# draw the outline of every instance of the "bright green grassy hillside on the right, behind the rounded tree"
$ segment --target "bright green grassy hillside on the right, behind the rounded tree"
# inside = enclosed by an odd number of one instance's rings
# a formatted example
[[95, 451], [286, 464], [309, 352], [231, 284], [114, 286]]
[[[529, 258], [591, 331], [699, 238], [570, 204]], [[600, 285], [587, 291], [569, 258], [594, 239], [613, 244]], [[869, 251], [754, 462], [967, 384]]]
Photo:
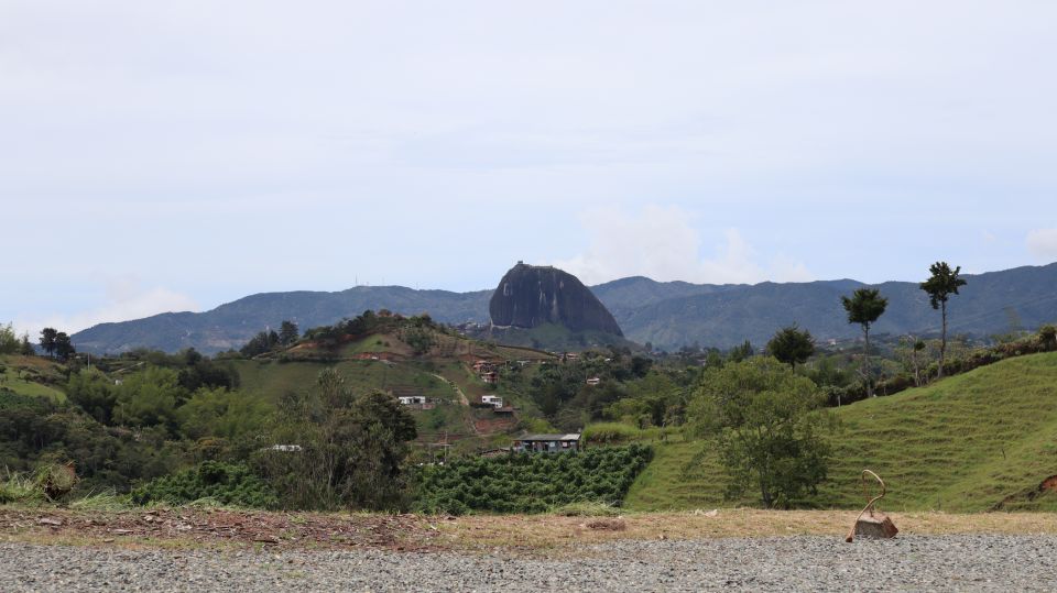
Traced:
[[[1057, 353], [1003, 361], [837, 415], [842, 429], [818, 506], [863, 504], [859, 472], [869, 468], [889, 484], [889, 509], [1057, 510], [1057, 492], [1039, 490], [1057, 474]], [[707, 443], [660, 446], [626, 504], [730, 505], [724, 481]]]

